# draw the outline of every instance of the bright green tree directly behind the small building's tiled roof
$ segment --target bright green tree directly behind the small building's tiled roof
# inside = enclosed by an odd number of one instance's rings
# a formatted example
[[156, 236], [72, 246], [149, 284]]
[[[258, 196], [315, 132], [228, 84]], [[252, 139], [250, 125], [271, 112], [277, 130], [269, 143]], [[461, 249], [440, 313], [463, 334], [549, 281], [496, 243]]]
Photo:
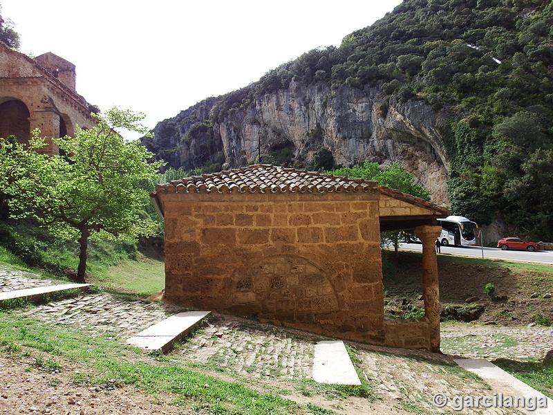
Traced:
[[[405, 168], [397, 162], [389, 163], [384, 169], [380, 169], [378, 163], [366, 161], [362, 165], [343, 167], [328, 173], [335, 174], [336, 176], [358, 177], [375, 181], [379, 185], [391, 187], [400, 192], [411, 194], [411, 196], [420, 197], [420, 199], [424, 199], [425, 201], [430, 200], [430, 192], [423, 186], [415, 183], [413, 175], [406, 172]], [[414, 234], [403, 230], [382, 232], [380, 240], [384, 246], [393, 245], [395, 252], [397, 252], [402, 237], [414, 237]]]

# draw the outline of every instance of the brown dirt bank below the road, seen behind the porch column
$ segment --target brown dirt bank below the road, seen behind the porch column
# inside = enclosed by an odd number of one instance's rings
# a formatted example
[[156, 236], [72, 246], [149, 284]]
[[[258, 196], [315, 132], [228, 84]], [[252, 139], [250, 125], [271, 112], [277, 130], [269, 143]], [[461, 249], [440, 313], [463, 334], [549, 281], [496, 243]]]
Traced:
[[[400, 252], [390, 258], [397, 273], [384, 277], [386, 313], [405, 317], [413, 308], [424, 308], [421, 257]], [[549, 273], [514, 271], [494, 261], [467, 265], [438, 255], [438, 272], [442, 321], [525, 326], [543, 321], [540, 317], [553, 320], [553, 267]], [[495, 286], [494, 295], [485, 293], [487, 284]]]

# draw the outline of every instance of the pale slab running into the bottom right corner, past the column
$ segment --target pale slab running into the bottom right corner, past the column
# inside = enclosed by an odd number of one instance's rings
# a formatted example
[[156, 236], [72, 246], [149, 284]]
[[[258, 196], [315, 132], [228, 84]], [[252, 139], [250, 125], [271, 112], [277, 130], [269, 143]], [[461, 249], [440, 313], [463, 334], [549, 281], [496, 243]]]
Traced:
[[[536, 391], [533, 387], [527, 385], [522, 380], [518, 380], [511, 374], [500, 367], [494, 365], [486, 359], [456, 359], [455, 362], [465, 370], [477, 374], [485, 380], [494, 392], [498, 400], [504, 400], [507, 396], [523, 396], [525, 398], [541, 399], [541, 402], [546, 402], [547, 407], [536, 407], [534, 410], [523, 410], [527, 414], [534, 415], [552, 415], [553, 400], [547, 398], [541, 392]], [[501, 395], [500, 395], [501, 394]], [[491, 394], [490, 394], [491, 395]], [[519, 407], [518, 409], [522, 409]]]

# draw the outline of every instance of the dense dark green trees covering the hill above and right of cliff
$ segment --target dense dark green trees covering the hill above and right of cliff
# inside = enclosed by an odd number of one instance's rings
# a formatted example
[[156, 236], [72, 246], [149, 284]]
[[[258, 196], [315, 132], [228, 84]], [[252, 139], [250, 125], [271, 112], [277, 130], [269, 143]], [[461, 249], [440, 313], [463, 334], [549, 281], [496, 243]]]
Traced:
[[400, 101], [447, 111], [452, 210], [553, 240], [550, 1], [405, 0], [339, 48], [310, 50], [220, 97], [212, 120], [292, 81], [381, 86]]

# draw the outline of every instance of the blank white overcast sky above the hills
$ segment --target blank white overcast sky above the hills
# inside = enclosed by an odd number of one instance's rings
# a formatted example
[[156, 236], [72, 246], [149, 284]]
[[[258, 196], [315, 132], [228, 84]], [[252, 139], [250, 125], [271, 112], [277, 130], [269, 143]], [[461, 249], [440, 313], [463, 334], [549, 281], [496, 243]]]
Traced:
[[67, 59], [88, 102], [143, 112], [149, 128], [308, 50], [339, 46], [401, 2], [0, 0], [21, 52]]

